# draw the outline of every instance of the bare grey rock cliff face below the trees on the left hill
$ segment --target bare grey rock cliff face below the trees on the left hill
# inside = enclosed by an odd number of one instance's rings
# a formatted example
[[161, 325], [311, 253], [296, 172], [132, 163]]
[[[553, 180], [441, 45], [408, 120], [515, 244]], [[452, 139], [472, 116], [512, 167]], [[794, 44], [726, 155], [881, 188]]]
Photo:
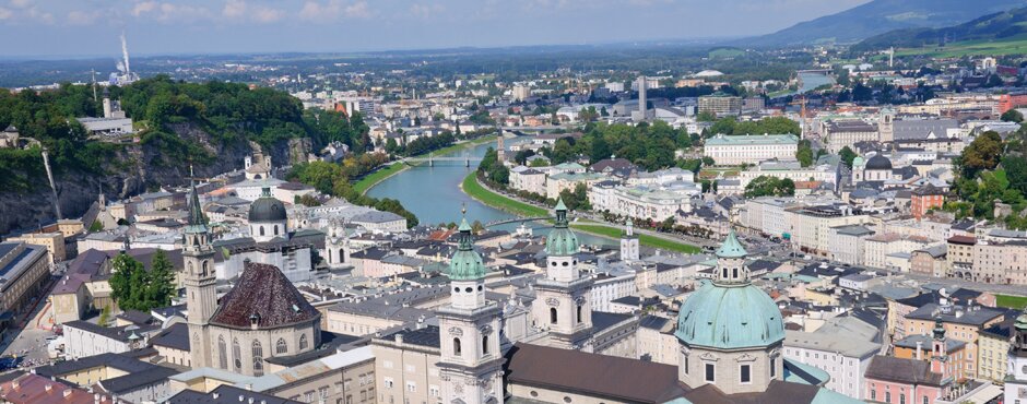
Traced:
[[[243, 161], [252, 154], [249, 142], [220, 144], [196, 126], [180, 123], [170, 129], [181, 139], [197, 142], [214, 156], [210, 164], [194, 164], [197, 177], [213, 177], [243, 168]], [[306, 162], [312, 150], [310, 139], [279, 142], [270, 151], [275, 166]], [[168, 162], [158, 147], [132, 144], [105, 164], [107, 175], [61, 171], [58, 169], [58, 199], [64, 218], [81, 217], [101, 192], [108, 201], [126, 199], [161, 186], [181, 186], [189, 182], [189, 164]], [[27, 193], [0, 190], [0, 235], [32, 229], [57, 219], [52, 193], [45, 176], [36, 178], [36, 187]], [[85, 224], [90, 226], [88, 223]]]

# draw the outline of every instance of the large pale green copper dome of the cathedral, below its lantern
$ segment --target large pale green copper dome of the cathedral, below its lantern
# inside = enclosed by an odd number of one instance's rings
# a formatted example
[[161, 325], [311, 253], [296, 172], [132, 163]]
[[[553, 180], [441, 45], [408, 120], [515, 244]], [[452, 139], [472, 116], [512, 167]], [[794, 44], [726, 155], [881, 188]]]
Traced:
[[707, 282], [682, 305], [674, 335], [688, 346], [762, 347], [784, 340], [784, 322], [777, 305], [758, 287]]

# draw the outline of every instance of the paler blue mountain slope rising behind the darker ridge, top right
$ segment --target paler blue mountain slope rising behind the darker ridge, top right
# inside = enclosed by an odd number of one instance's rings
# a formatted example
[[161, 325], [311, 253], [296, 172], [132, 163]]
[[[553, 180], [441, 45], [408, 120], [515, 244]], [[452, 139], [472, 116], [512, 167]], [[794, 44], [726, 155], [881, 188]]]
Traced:
[[857, 43], [895, 29], [952, 26], [1024, 5], [1027, 0], [873, 0], [774, 34], [734, 43], [748, 46]]

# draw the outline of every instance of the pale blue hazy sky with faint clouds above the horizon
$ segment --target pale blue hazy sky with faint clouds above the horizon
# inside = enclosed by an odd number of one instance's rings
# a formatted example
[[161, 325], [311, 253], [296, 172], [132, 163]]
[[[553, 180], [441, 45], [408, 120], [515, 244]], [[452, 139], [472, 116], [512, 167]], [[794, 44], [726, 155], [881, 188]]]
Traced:
[[869, 0], [0, 0], [0, 57], [358, 51], [744, 36]]

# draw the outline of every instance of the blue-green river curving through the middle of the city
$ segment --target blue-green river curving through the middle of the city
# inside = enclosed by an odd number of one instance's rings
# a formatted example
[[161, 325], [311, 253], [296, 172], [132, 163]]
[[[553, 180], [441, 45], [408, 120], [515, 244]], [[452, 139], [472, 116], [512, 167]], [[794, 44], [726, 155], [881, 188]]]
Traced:
[[[507, 144], [516, 141], [507, 141]], [[471, 148], [464, 148], [445, 154], [445, 157], [462, 157], [470, 153], [471, 156], [481, 157], [491, 146], [495, 147], [496, 142], [481, 144]], [[487, 206], [460, 190], [460, 182], [463, 177], [474, 169], [475, 163], [471, 162], [470, 168], [464, 167], [463, 162], [436, 162], [434, 167], [415, 166], [397, 174], [386, 180], [378, 182], [374, 188], [367, 191], [369, 197], [391, 198], [399, 200], [408, 211], [417, 215], [417, 219], [425, 225], [437, 225], [439, 223], [460, 222], [460, 209], [467, 205], [468, 222], [480, 221], [488, 223], [514, 218], [515, 215], [504, 211]], [[529, 224], [534, 228], [535, 234], [545, 234], [548, 231], [544, 223]], [[497, 226], [499, 229], [514, 230], [517, 224]], [[589, 245], [609, 245], [616, 243], [614, 240], [595, 237], [577, 231], [578, 240]]]

